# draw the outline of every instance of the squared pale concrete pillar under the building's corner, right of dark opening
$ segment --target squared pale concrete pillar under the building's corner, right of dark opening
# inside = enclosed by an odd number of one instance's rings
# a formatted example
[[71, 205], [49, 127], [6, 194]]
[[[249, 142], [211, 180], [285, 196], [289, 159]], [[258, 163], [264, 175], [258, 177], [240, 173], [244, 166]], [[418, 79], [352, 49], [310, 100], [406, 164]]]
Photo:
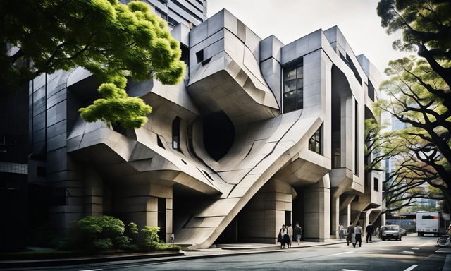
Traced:
[[304, 240], [323, 242], [330, 239], [329, 175], [304, 189]]

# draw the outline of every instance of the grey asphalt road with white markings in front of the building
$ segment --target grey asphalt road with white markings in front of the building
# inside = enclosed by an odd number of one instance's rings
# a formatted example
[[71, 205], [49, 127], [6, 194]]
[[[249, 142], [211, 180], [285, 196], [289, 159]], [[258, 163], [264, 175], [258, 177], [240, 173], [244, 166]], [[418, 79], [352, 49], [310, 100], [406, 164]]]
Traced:
[[[60, 267], [60, 270], [443, 270], [447, 254], [434, 253], [437, 249], [435, 241], [433, 237], [407, 236], [402, 241], [362, 243], [360, 248], [337, 244], [167, 263], [101, 263]], [[451, 263], [451, 255], [448, 258], [448, 263]]]

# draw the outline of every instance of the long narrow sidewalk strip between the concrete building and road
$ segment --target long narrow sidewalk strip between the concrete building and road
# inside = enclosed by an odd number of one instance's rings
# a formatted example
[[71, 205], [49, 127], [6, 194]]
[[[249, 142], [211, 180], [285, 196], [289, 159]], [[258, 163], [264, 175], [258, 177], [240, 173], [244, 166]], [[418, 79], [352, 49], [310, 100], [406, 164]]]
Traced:
[[278, 251], [290, 251], [314, 246], [330, 246], [346, 241], [333, 239], [324, 242], [301, 242], [301, 246], [293, 243], [292, 248], [280, 249], [280, 245], [265, 243], [229, 243], [221, 244], [221, 248], [206, 248], [193, 251], [181, 251], [180, 253], [139, 254], [121, 256], [95, 256], [62, 258], [49, 260], [0, 260], [0, 268], [19, 267], [46, 267], [58, 265], [80, 265], [87, 263], [103, 263], [115, 261], [117, 263], [133, 260], [134, 263], [159, 263], [174, 260], [193, 260], [197, 258], [227, 257], [233, 255], [247, 255], [256, 253], [273, 253]]

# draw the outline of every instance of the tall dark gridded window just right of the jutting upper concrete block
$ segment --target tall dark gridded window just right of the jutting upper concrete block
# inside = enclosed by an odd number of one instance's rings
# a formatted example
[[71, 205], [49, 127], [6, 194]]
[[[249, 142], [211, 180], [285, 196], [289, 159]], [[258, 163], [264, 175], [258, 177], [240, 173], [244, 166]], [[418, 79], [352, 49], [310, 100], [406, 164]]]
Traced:
[[285, 68], [283, 73], [283, 112], [304, 107], [304, 66], [302, 61]]

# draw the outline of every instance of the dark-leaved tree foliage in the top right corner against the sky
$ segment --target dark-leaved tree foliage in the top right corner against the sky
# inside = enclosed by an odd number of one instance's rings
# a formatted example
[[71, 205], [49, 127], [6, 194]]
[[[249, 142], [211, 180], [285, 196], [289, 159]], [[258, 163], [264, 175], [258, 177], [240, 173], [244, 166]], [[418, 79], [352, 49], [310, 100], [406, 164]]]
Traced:
[[402, 39], [393, 42], [395, 49], [416, 47], [447, 88], [435, 88], [421, 78], [419, 84], [445, 100], [451, 110], [451, 1], [449, 0], [381, 0], [377, 7], [381, 25], [388, 34], [402, 31]]

